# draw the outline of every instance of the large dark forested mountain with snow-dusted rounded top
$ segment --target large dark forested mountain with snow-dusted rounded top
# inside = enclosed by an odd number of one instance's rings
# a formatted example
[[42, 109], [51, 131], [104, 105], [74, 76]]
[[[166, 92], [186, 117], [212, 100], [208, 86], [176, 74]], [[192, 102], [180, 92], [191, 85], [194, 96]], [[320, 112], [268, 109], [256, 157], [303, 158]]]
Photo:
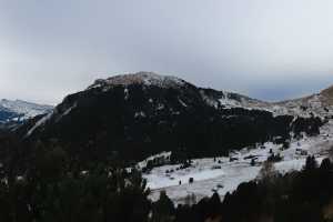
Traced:
[[135, 162], [162, 151], [176, 159], [213, 157], [320, 133], [321, 117], [275, 114], [260, 105], [268, 103], [140, 72], [98, 80], [18, 132], [30, 143], [57, 141], [88, 162]]

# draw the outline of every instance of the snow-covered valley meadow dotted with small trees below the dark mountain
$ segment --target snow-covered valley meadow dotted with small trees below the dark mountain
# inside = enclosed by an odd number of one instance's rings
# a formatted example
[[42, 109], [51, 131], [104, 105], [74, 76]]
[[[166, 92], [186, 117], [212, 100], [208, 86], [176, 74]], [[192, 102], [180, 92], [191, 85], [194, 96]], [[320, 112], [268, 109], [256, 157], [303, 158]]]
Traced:
[[[159, 199], [161, 190], [165, 190], [175, 203], [184, 203], [186, 196], [192, 194], [196, 196], [196, 200], [211, 196], [213, 192], [218, 192], [223, 198], [226, 192], [235, 190], [240, 183], [254, 180], [259, 175], [262, 163], [270, 155], [270, 150], [280, 153], [283, 158], [274, 167], [285, 173], [301, 170], [309, 154], [315, 155], [321, 162], [332, 145], [333, 122], [329, 122], [322, 127], [320, 135], [294, 140], [287, 150], [281, 150], [281, 145], [269, 142], [261, 148], [243, 149], [232, 153], [231, 157], [236, 159], [233, 162], [229, 157], [216, 158], [215, 161], [214, 159], [198, 159], [193, 160], [192, 167], [184, 170], [176, 170], [180, 165], [163, 165], [154, 168], [143, 176], [152, 191], [150, 198], [153, 201]], [[251, 158], [254, 157], [258, 159], [255, 164], [251, 165]], [[170, 173], [170, 171], [173, 172]], [[189, 183], [190, 178], [194, 180], [192, 184]]]

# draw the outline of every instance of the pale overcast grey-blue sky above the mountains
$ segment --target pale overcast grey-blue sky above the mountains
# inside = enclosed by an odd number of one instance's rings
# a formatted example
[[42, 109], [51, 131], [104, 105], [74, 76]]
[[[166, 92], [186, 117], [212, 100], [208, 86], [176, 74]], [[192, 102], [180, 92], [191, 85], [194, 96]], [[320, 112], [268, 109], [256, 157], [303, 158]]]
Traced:
[[0, 98], [154, 71], [265, 100], [333, 84], [332, 0], [0, 0]]

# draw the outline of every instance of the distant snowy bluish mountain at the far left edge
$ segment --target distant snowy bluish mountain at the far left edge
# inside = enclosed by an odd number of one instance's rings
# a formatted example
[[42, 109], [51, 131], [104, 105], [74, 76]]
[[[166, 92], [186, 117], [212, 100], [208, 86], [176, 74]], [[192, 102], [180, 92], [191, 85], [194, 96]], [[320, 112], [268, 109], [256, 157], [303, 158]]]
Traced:
[[0, 125], [16, 125], [30, 118], [48, 113], [52, 109], [51, 105], [2, 99], [0, 100]]

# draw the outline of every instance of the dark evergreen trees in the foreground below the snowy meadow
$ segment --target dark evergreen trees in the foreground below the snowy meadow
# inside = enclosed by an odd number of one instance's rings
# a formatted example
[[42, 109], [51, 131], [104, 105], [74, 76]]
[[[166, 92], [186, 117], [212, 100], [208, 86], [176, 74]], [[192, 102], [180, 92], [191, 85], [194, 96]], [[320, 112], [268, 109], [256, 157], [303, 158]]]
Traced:
[[8, 222], [329, 222], [333, 219], [333, 164], [314, 157], [301, 172], [280, 174], [265, 163], [260, 176], [223, 200], [218, 193], [194, 204], [157, 202], [134, 169], [121, 161], [82, 165], [51, 141], [27, 148], [0, 137], [0, 221]]

